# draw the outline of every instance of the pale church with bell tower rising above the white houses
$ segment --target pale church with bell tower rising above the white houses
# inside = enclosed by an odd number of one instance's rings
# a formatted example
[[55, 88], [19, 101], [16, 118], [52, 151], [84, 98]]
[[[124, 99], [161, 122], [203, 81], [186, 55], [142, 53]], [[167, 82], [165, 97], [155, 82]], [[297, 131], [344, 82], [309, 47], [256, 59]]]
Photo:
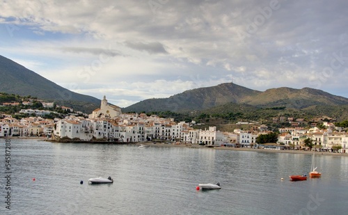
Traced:
[[102, 104], [100, 104], [100, 109], [95, 109], [88, 118], [114, 118], [120, 116], [122, 113], [119, 106], [108, 104], [106, 96], [102, 99]]

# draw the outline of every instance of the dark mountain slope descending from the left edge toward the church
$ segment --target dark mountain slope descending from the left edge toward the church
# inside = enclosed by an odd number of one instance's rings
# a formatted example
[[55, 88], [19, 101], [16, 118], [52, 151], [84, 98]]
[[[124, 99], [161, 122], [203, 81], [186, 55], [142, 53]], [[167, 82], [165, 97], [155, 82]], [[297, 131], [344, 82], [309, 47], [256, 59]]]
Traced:
[[100, 105], [100, 99], [74, 93], [45, 79], [26, 67], [0, 56], [0, 92], [47, 99], [74, 109], [91, 112]]

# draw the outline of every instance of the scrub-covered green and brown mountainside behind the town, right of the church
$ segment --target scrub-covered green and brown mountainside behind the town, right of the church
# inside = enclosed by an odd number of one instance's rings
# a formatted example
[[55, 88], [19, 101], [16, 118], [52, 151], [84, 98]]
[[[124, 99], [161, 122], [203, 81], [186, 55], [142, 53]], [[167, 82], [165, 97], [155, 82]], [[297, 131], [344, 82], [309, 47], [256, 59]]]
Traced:
[[[230, 106], [230, 109], [223, 109], [226, 104]], [[246, 110], [262, 109], [262, 112], [267, 113], [292, 110], [300, 113], [306, 111], [306, 115], [309, 113], [312, 116], [330, 116], [342, 120], [343, 118], [348, 119], [347, 105], [347, 98], [312, 88], [274, 88], [260, 92], [234, 83], [222, 83], [218, 86], [187, 90], [168, 98], [145, 99], [142, 102], [128, 106], [124, 109], [124, 112], [171, 110], [178, 113], [189, 113], [192, 111], [215, 110], [217, 113], [225, 111], [246, 113]], [[217, 109], [222, 109], [222, 111], [217, 111]], [[243, 111], [235, 111], [234, 109], [243, 109]], [[248, 115], [250, 116], [252, 113], [253, 111]], [[209, 115], [212, 116], [212, 114]]]

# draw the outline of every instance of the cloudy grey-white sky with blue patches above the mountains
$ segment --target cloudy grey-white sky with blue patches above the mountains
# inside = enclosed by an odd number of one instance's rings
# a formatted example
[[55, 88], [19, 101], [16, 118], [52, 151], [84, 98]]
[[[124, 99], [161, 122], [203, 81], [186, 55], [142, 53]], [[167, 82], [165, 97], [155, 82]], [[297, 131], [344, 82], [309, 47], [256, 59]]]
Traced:
[[121, 107], [230, 81], [348, 97], [346, 0], [0, 5], [0, 55]]

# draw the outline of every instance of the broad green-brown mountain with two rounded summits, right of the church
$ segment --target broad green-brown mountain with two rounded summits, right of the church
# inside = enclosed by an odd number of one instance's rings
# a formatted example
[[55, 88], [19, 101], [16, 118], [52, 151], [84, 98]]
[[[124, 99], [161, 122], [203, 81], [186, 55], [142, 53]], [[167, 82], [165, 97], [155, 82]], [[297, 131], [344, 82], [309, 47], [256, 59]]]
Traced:
[[123, 109], [124, 112], [201, 111], [229, 102], [258, 108], [305, 109], [310, 106], [347, 105], [348, 99], [313, 88], [272, 88], [264, 92], [235, 83], [196, 88], [163, 99], [146, 99]]

